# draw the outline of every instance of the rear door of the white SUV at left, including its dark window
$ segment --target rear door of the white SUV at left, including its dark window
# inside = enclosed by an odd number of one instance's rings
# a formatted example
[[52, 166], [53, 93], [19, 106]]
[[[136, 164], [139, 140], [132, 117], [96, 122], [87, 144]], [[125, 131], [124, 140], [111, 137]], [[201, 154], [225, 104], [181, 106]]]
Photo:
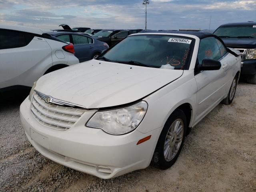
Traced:
[[[32, 86], [52, 66], [52, 51], [42, 37], [16, 30], [0, 29], [0, 88]], [[34, 70], [39, 66], [42, 70]]]

